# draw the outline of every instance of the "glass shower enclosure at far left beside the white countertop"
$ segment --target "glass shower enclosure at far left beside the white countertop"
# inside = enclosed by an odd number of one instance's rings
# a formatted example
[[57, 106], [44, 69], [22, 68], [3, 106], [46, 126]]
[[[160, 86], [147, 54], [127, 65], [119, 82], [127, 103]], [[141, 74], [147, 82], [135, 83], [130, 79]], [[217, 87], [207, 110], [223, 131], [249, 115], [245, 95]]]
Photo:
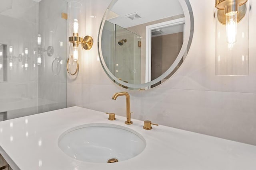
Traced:
[[0, 121], [67, 107], [64, 0], [1, 0]]

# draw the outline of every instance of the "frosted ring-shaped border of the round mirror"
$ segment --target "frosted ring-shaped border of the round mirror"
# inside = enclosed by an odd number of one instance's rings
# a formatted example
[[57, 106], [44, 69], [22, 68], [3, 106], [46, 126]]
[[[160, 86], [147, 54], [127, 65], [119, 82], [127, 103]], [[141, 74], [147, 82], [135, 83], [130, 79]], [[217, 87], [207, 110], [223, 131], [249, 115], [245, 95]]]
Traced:
[[[145, 89], [148, 89], [148, 87], [150, 87], [150, 86], [160, 82], [164, 78], [166, 78], [176, 68], [178, 63], [180, 63], [180, 60], [182, 59], [185, 52], [187, 51], [187, 53], [188, 53], [188, 51], [190, 49], [190, 46], [191, 46], [191, 43], [192, 43], [192, 37], [193, 37], [193, 34], [194, 34], [194, 16], [193, 16], [193, 12], [192, 12], [192, 7], [190, 5], [189, 0], [179, 0], [180, 5], [182, 6], [182, 9], [183, 9], [184, 18], [185, 18], [185, 28], [184, 28], [185, 38], [183, 40], [183, 44], [182, 44], [182, 47], [180, 49], [180, 52], [179, 52], [177, 58], [175, 59], [174, 63], [172, 63], [170, 68], [168, 68], [168, 70], [166, 70], [166, 72], [164, 72], [161, 76], [159, 76], [158, 78], [156, 78], [154, 80], [151, 80], [150, 82], [146, 82], [146, 83], [143, 83], [143, 84], [131, 84], [131, 83], [126, 83], [126, 82], [123, 82], [122, 80], [119, 80], [118, 78], [116, 78], [114, 76], [114, 74], [112, 74], [112, 72], [110, 72], [110, 70], [106, 66], [106, 63], [105, 63], [103, 55], [102, 55], [102, 50], [101, 50], [102, 49], [101, 48], [101, 37], [102, 37], [102, 31], [103, 31], [104, 23], [106, 21], [106, 16], [108, 16], [109, 12], [111, 11], [111, 8], [114, 6], [114, 4], [117, 1], [118, 0], [112, 0], [112, 2], [110, 2], [110, 5], [106, 9], [106, 12], [104, 13], [102, 21], [100, 23], [100, 29], [99, 29], [99, 33], [98, 33], [98, 54], [100, 56], [100, 63], [102, 65], [104, 71], [108, 75], [108, 77], [111, 80], [113, 80], [115, 82], [115, 84], [118, 83], [118, 84], [121, 84], [122, 86], [127, 86], [129, 88], [137, 88], [137, 89], [145, 88]], [[189, 36], [186, 35], [186, 33], [190, 33]], [[168, 78], [168, 79], [170, 79], [170, 78]], [[158, 85], [158, 86], [160, 86], [160, 85]]]

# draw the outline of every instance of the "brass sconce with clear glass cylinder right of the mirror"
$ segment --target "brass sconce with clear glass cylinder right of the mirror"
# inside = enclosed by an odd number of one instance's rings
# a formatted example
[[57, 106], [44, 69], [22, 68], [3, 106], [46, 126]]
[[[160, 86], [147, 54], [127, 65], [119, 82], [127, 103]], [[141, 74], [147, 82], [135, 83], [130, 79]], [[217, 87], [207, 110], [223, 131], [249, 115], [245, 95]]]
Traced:
[[215, 0], [216, 75], [248, 75], [248, 0]]

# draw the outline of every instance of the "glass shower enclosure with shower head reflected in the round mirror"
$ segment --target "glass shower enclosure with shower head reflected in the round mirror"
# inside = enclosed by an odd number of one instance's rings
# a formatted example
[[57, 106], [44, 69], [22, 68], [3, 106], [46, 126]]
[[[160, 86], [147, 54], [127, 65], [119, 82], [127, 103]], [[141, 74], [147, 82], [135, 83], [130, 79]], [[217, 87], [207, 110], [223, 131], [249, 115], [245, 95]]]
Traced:
[[140, 36], [109, 21], [102, 36], [102, 55], [108, 69], [123, 82], [140, 84]]

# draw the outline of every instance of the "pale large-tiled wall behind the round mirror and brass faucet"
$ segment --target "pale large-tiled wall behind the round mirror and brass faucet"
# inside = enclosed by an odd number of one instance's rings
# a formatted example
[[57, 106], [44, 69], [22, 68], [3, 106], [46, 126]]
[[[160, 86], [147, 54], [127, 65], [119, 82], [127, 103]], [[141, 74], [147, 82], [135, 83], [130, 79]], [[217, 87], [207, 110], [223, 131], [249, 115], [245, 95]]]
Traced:
[[[84, 35], [91, 35], [96, 42], [110, 0], [81, 2], [86, 16]], [[95, 43], [83, 52], [80, 76], [68, 79], [68, 106], [125, 116], [125, 98], [114, 101], [111, 97], [128, 91], [134, 119], [256, 145], [256, 3], [249, 2], [249, 76], [215, 76], [214, 1], [190, 0], [194, 37], [184, 63], [172, 78], [146, 91], [120, 88], [102, 69]]]

